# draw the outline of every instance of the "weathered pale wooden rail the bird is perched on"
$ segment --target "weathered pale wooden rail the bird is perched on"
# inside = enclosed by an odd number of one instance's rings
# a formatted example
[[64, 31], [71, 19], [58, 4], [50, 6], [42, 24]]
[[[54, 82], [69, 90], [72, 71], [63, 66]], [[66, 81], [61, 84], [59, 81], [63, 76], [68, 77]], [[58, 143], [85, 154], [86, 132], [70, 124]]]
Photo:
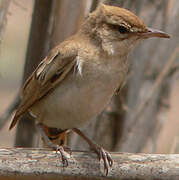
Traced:
[[69, 166], [49, 149], [0, 149], [0, 177], [58, 179], [179, 179], [179, 154], [112, 153], [114, 165], [106, 177], [102, 162], [91, 152], [72, 152]]

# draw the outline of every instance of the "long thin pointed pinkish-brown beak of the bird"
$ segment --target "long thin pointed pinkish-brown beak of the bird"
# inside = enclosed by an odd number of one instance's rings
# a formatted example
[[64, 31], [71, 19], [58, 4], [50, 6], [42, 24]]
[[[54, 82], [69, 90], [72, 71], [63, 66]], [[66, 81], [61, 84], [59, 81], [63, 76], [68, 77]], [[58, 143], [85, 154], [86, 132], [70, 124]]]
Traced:
[[140, 35], [143, 38], [151, 38], [151, 37], [170, 38], [169, 34], [152, 28], [147, 28], [147, 32], [142, 32], [140, 33]]

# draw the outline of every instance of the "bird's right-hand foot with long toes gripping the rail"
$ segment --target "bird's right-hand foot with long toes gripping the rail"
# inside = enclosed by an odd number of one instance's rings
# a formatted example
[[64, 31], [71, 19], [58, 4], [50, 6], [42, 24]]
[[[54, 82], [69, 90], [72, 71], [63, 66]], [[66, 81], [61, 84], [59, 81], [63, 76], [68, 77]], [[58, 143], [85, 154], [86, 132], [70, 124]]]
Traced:
[[97, 144], [94, 144], [92, 147], [92, 150], [95, 151], [95, 153], [98, 155], [99, 157], [99, 161], [101, 161], [101, 159], [104, 162], [104, 172], [106, 174], [106, 176], [108, 175], [112, 165], [113, 165], [113, 160], [112, 157], [110, 155], [109, 152], [105, 151], [102, 147], [100, 147]]

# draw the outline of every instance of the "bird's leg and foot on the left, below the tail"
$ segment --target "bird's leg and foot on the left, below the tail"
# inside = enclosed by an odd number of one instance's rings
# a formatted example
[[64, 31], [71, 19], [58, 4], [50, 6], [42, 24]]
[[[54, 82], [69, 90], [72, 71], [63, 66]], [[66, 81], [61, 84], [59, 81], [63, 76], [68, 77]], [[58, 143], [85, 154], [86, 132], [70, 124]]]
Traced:
[[44, 131], [44, 128], [43, 128], [43, 124], [42, 123], [38, 123], [37, 124], [37, 129], [38, 131], [40, 132], [44, 142], [47, 144], [48, 147], [56, 150], [56, 152], [60, 152], [61, 154], [61, 158], [62, 158], [62, 163], [63, 163], [63, 166], [68, 166], [68, 156], [63, 148], [62, 145], [58, 145], [58, 144], [54, 144], [52, 143], [52, 141], [48, 138], [48, 136], [46, 135], [45, 131]]

